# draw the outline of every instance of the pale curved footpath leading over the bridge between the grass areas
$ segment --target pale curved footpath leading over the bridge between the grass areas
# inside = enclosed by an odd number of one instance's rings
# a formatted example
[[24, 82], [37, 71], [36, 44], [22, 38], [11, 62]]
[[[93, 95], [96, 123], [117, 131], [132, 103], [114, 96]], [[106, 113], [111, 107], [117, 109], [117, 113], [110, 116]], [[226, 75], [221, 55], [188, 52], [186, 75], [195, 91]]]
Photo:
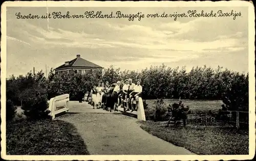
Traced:
[[92, 155], [189, 155], [185, 148], [152, 136], [135, 118], [70, 102], [68, 114], [57, 117], [74, 124]]

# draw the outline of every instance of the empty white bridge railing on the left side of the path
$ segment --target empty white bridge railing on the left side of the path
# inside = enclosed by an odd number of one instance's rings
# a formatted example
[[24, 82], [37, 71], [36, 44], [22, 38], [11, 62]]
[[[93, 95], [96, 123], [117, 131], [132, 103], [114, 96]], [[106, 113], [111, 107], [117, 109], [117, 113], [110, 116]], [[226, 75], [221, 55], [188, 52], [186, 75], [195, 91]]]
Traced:
[[52, 119], [55, 118], [56, 114], [67, 112], [68, 109], [68, 102], [69, 102], [69, 94], [62, 94], [56, 97], [53, 97], [49, 101], [49, 111], [50, 116]]

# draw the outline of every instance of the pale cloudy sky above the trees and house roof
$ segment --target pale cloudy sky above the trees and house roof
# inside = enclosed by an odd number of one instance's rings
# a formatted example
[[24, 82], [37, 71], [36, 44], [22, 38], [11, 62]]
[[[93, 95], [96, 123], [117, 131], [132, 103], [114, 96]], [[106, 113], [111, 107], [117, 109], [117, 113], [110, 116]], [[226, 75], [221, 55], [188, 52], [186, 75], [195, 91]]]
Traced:
[[[17, 19], [15, 14], [45, 15], [67, 11], [109, 14], [167, 14], [241, 12], [241, 17]], [[247, 8], [7, 8], [7, 77], [30, 70], [49, 71], [76, 58], [108, 68], [142, 70], [164, 63], [167, 67], [204, 66], [248, 72]]]

